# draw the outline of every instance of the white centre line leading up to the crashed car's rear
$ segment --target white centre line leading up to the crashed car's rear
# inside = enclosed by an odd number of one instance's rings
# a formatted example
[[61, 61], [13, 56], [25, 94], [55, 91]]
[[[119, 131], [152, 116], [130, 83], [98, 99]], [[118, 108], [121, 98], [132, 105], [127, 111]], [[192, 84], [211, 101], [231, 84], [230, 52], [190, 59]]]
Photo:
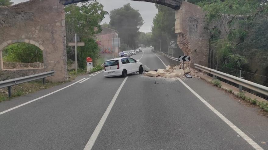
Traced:
[[84, 148], [84, 150], [91, 150], [91, 148], [93, 147], [99, 133], [101, 132], [101, 128], [104, 125], [105, 120], [107, 119], [113, 105], [115, 104], [115, 100], [117, 98], [117, 96], [119, 95], [122, 87], [124, 86], [126, 80], [128, 79], [129, 76], [125, 77], [124, 81], [122, 82], [122, 84], [119, 86], [118, 90], [115, 93], [115, 96], [113, 97], [113, 99], [111, 100], [109, 106], [107, 107], [106, 111], [104, 112], [103, 116], [101, 117], [100, 122], [98, 123], [97, 127], [95, 128], [94, 132], [92, 133], [89, 141], [86, 143], [86, 146]]

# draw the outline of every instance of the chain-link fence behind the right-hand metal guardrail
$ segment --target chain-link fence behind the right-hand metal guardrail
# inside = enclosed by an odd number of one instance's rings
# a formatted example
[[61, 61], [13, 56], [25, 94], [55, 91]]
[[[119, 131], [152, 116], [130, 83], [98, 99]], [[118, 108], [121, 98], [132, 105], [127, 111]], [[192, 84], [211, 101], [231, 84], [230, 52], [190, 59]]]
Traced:
[[[236, 76], [236, 77], [239, 77], [239, 78], [243, 78], [245, 80], [248, 80], [248, 81], [257, 83], [259, 85], [263, 85], [263, 86], [267, 86], [268, 87], [268, 77], [266, 77], [266, 76], [254, 74], [254, 73], [251, 73], [251, 72], [245, 72], [245, 71], [237, 70], [237, 69], [233, 69], [233, 68], [228, 68], [228, 67], [220, 66], [220, 65], [218, 65], [215, 68], [216, 68], [216, 70], [218, 70], [220, 72], [224, 72], [224, 73], [227, 73], [229, 75], [233, 75], [233, 76]], [[217, 78], [219, 80], [223, 81], [223, 82], [226, 82], [226, 83], [228, 83], [230, 85], [233, 85], [233, 86], [239, 88], [239, 85], [238, 84], [235, 84], [234, 82], [230, 82], [228, 80], [225, 80], [225, 79], [219, 78], [219, 77], [217, 77]], [[244, 91], [247, 91], [249, 93], [252, 93], [254, 95], [258, 95], [259, 97], [262, 97], [262, 98], [268, 100], [268, 96], [267, 95], [260, 94], [258, 92], [255, 92], [255, 91], [253, 91], [251, 89], [248, 89], [248, 88], [245, 88], [245, 87], [243, 87], [243, 90]]]

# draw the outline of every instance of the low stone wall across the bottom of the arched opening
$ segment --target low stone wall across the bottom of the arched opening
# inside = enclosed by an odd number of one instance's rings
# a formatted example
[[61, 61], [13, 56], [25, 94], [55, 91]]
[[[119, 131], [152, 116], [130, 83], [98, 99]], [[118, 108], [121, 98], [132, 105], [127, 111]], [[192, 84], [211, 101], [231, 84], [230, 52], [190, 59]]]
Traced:
[[44, 68], [44, 63], [3, 62], [3, 67], [4, 69], [41, 69]]

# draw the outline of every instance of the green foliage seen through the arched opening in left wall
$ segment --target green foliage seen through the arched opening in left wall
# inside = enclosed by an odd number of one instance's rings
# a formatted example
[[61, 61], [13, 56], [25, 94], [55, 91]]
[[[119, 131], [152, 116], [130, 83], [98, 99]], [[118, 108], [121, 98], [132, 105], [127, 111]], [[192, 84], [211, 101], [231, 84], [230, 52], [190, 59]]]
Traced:
[[43, 52], [29, 43], [14, 43], [3, 50], [4, 62], [43, 62]]

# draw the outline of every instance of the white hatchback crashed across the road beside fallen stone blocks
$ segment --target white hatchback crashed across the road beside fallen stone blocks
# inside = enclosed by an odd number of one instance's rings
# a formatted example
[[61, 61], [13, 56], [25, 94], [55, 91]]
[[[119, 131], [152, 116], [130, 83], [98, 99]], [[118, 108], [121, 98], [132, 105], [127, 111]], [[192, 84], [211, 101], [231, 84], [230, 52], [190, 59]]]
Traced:
[[104, 63], [104, 77], [122, 76], [126, 77], [128, 74], [139, 72], [143, 73], [143, 66], [139, 60], [131, 57], [122, 57], [107, 60]]

